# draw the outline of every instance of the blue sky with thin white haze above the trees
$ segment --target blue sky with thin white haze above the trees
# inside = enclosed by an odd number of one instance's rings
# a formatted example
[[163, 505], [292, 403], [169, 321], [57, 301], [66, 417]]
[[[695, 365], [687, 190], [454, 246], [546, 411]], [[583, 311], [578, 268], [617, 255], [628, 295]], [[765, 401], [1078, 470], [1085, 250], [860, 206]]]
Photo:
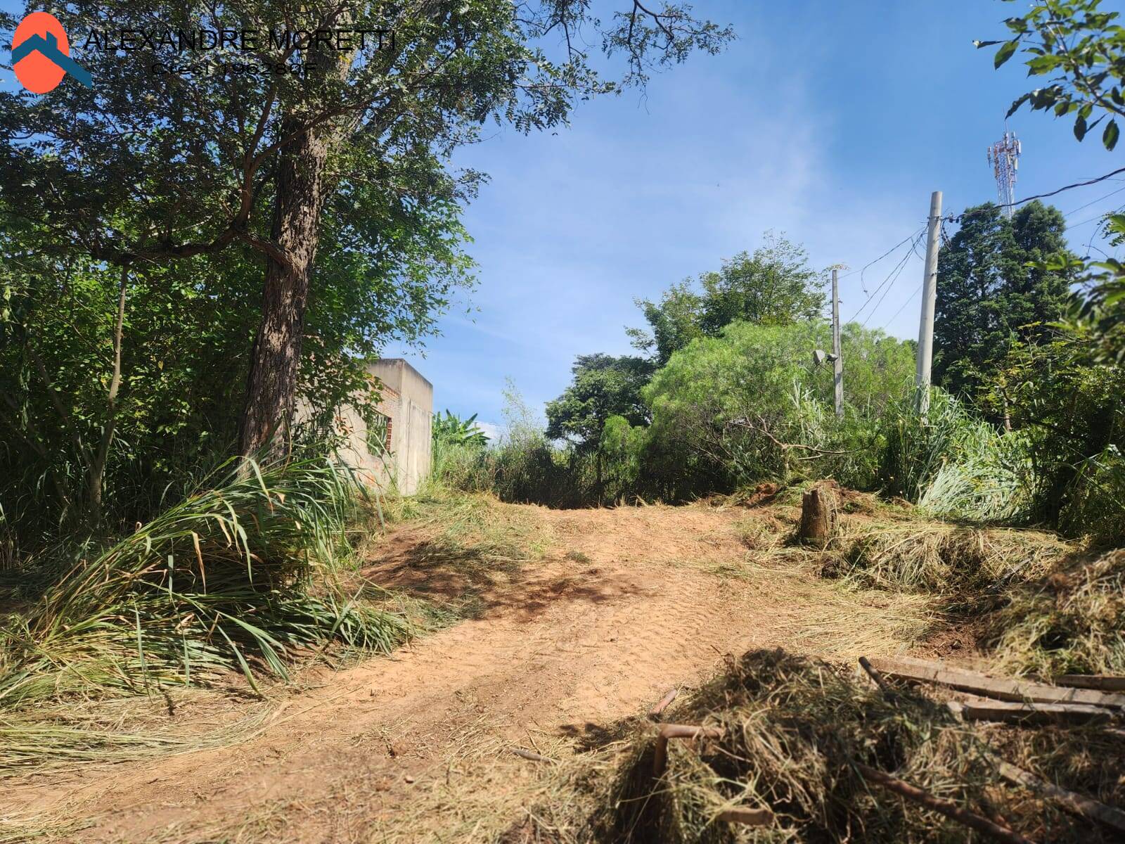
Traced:
[[[695, 7], [735, 26], [738, 41], [722, 55], [655, 77], [647, 97], [583, 104], [557, 134], [497, 129], [458, 156], [492, 177], [466, 214], [479, 311], [444, 318], [424, 357], [387, 350], [433, 381], [435, 410], [497, 423], [512, 378], [541, 411], [566, 387], [576, 354], [629, 351], [624, 327], [641, 324], [636, 297], [753, 250], [766, 230], [803, 243], [818, 268], [858, 269], [924, 225], [930, 191], [944, 192], [946, 213], [996, 198], [986, 149], [1011, 100], [1034, 86], [1015, 61], [993, 71], [992, 51], [972, 41], [1001, 37], [1014, 5]], [[1069, 122], [1018, 113], [1009, 128], [1024, 144], [1017, 199], [1120, 167], [1092, 134], [1079, 144]], [[1123, 185], [1055, 203], [1071, 212]], [[1123, 204], [1125, 191], [1068, 219]], [[1096, 227], [1072, 232], [1080, 253]], [[864, 273], [868, 290], [904, 249]], [[917, 336], [921, 275], [911, 255], [868, 325]], [[844, 318], [866, 298], [860, 280], [843, 280]]]

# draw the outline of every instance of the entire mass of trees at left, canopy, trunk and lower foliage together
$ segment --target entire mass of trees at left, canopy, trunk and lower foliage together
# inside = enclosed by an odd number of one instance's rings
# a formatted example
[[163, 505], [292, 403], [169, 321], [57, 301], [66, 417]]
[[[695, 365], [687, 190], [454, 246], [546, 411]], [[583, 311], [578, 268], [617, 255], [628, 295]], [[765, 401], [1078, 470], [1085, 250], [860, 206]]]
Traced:
[[[471, 284], [460, 214], [480, 174], [450, 155], [485, 122], [557, 126], [732, 37], [628, 0], [596, 18], [585, 0], [51, 11], [93, 86], [0, 91], [0, 412], [21, 443], [0, 485], [26, 482], [0, 504], [89, 526], [107, 474], [132, 522], [162, 466], [331, 433], [370, 393], [364, 359], [433, 330]], [[201, 32], [250, 37], [204, 50]], [[618, 64], [595, 70], [588, 43]]]

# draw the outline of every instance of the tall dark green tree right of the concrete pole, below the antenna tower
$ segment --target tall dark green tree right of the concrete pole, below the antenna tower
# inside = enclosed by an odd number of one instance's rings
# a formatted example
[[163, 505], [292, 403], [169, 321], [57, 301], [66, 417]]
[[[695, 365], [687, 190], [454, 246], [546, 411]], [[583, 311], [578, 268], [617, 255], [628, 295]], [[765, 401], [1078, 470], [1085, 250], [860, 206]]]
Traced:
[[936, 383], [975, 397], [1014, 342], [1060, 318], [1068, 276], [1037, 264], [1065, 251], [1064, 231], [1062, 214], [1038, 201], [1011, 218], [992, 203], [965, 209], [938, 253]]

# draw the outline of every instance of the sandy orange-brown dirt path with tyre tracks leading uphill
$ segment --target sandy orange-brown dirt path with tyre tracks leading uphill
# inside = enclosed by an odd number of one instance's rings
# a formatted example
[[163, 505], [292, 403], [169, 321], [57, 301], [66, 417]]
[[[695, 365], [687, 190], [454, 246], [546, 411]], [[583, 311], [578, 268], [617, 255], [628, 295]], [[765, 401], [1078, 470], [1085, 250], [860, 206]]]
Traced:
[[[549, 530], [550, 549], [482, 590], [476, 618], [309, 671], [249, 740], [34, 778], [9, 789], [9, 811], [80, 819], [61, 837], [81, 842], [495, 839], [537, 787], [512, 747], [596, 744], [724, 654], [886, 653], [922, 623], [878, 595], [748, 568], [745, 510], [504, 506]], [[423, 595], [466, 589], [449, 560], [417, 564], [430, 539], [397, 529], [368, 573]]]

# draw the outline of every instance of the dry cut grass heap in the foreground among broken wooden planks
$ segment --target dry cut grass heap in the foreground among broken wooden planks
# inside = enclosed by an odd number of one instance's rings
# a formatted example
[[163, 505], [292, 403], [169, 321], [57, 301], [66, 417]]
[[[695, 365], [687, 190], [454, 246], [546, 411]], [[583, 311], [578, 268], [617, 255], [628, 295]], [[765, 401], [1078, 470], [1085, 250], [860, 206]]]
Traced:
[[[718, 727], [721, 738], [668, 744], [654, 779], [656, 729], [639, 730], [601, 793], [592, 838], [613, 842], [868, 841], [962, 842], [968, 830], [867, 782], [857, 764], [890, 773], [932, 794], [1019, 832], [1053, 842], [1098, 842], [1101, 830], [1004, 787], [1008, 760], [1051, 781], [1113, 799], [1123, 772], [1107, 740], [1080, 743], [1101, 762], [1066, 770], [1070, 756], [1036, 761], [1043, 737], [1068, 749], [1062, 730], [980, 728], [908, 689], [884, 695], [849, 668], [781, 650], [750, 652], [674, 709], [668, 720]], [[1104, 734], [1098, 734], [1102, 736]], [[1028, 736], [1030, 736], [1028, 738]], [[1001, 742], [1002, 739], [1002, 742]], [[776, 821], [754, 829], [718, 820], [724, 809], [771, 808]]]

